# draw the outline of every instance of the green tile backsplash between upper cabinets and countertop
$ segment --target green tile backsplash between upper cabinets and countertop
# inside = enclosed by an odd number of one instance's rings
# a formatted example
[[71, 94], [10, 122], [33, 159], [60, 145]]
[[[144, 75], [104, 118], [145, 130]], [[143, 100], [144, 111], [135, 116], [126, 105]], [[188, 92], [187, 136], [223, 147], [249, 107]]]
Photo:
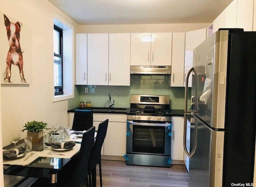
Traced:
[[[170, 75], [131, 75], [130, 86], [75, 85], [75, 98], [68, 100], [68, 109], [78, 106], [80, 100], [90, 100], [92, 106], [108, 107], [109, 97], [114, 107], [130, 107], [130, 94], [170, 95], [171, 109], [184, 109], [184, 87], [170, 87]], [[88, 87], [89, 93], [84, 88]], [[189, 93], [191, 89], [189, 89]], [[188, 103], [190, 101], [188, 96]]]

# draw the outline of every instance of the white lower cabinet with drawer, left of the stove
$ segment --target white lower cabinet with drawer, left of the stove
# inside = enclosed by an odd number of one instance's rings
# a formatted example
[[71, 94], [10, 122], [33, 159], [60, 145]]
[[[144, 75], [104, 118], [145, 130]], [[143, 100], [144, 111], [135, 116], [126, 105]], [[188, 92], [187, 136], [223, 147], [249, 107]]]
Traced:
[[[126, 154], [126, 114], [93, 114], [93, 125], [108, 119], [108, 130], [102, 147], [102, 155], [123, 156]], [[103, 151], [104, 150], [104, 151]]]

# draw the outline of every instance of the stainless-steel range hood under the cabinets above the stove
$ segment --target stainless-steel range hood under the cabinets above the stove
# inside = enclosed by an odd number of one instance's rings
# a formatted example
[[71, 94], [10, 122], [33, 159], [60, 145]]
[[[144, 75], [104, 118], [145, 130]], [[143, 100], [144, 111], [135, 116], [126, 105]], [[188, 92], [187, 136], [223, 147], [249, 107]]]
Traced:
[[171, 66], [131, 66], [131, 74], [171, 74]]

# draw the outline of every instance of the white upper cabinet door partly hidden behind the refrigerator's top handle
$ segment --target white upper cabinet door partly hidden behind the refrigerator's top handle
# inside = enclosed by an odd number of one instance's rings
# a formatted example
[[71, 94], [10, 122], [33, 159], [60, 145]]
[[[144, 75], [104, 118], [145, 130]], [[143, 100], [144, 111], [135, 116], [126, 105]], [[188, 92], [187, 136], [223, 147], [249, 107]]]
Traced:
[[[184, 63], [184, 86], [188, 70], [193, 65], [193, 50], [206, 39], [206, 28], [186, 32], [185, 37], [185, 63]], [[188, 80], [188, 87], [192, 86], [192, 75]]]

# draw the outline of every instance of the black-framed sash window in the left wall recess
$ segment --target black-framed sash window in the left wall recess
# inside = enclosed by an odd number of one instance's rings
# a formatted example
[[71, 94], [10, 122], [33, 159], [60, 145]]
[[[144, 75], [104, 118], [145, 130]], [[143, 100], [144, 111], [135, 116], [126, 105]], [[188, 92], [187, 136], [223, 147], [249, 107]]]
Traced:
[[63, 95], [63, 30], [54, 25], [54, 95]]

